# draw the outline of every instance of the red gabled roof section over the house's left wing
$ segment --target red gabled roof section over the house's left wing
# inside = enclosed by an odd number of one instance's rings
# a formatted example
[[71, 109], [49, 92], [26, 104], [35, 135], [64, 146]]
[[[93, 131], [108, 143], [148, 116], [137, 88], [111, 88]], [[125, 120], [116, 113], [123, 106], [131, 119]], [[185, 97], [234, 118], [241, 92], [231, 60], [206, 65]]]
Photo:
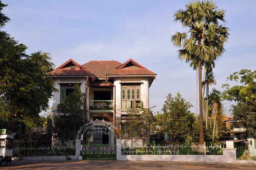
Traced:
[[93, 76], [93, 74], [73, 59], [70, 59], [55, 70], [47, 73], [47, 76]]

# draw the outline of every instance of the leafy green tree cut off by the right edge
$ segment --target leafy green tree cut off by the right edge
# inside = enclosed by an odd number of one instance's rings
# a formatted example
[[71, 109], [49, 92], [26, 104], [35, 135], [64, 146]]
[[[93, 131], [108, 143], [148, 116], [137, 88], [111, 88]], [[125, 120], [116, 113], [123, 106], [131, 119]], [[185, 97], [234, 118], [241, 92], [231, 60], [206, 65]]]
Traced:
[[227, 77], [227, 80], [240, 80], [243, 85], [235, 85], [230, 88], [228, 84], [222, 85], [225, 88], [223, 98], [235, 101], [232, 105], [234, 120], [239, 120], [239, 125], [246, 128], [246, 132], [256, 137], [256, 70], [242, 69]]

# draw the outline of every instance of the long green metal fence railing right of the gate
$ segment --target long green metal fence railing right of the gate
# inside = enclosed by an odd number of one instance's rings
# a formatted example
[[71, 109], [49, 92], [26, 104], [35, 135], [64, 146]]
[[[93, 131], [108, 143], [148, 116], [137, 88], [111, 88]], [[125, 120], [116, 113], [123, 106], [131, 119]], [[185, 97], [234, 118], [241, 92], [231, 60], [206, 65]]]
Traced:
[[157, 144], [122, 146], [122, 155], [223, 155], [224, 144]]

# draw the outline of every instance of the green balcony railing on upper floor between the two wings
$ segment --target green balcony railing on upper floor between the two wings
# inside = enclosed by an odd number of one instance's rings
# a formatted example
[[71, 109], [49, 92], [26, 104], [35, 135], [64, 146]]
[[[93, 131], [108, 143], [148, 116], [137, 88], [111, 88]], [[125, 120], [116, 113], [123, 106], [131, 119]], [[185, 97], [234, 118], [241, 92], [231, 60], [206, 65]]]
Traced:
[[90, 100], [90, 110], [113, 110], [113, 100]]

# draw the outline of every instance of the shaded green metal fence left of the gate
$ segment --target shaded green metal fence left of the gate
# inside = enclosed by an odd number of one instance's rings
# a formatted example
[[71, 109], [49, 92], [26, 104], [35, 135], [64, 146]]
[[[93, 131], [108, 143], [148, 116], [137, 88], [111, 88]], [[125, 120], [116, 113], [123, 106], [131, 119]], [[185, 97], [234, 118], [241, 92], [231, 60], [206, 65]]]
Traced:
[[14, 142], [12, 157], [76, 155], [76, 147], [55, 146], [53, 148], [47, 144], [37, 145], [37, 142]]

